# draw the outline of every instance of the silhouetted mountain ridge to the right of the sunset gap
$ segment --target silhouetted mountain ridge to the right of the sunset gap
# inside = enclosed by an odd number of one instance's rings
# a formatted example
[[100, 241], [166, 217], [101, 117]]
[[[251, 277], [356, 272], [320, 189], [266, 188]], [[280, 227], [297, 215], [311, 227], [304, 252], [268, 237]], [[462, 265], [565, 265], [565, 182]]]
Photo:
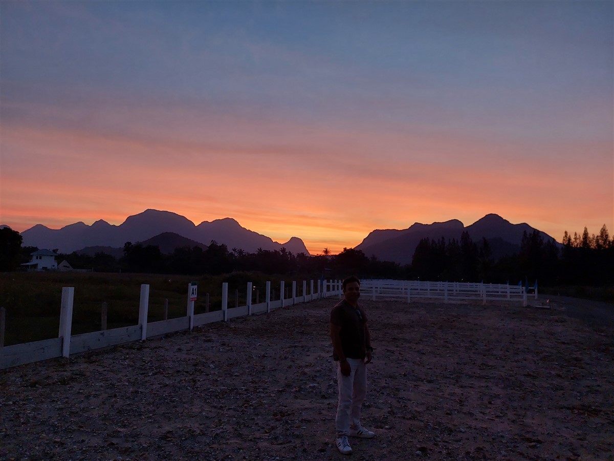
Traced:
[[[518, 253], [524, 232], [530, 234], [537, 229], [526, 223], [511, 224], [501, 216], [491, 214], [467, 227], [461, 221], [452, 219], [445, 223], [415, 223], [403, 230], [373, 230], [360, 245], [356, 246], [356, 250], [361, 250], [367, 256], [376, 256], [382, 261], [411, 264], [416, 246], [422, 238], [440, 240], [443, 237], [446, 242], [452, 238], [460, 240], [464, 230], [467, 230], [475, 243], [479, 244], [482, 238], [486, 238], [493, 258], [498, 259], [508, 254]], [[542, 235], [544, 242], [554, 241], [554, 238], [545, 232], [537, 231]]]

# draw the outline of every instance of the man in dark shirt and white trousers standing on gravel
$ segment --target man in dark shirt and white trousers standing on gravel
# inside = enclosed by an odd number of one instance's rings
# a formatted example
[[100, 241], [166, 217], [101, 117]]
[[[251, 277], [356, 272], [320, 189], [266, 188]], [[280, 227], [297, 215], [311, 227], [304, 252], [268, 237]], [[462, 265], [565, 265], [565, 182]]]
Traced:
[[348, 277], [341, 286], [343, 300], [330, 311], [330, 339], [333, 342], [333, 358], [338, 361], [336, 444], [341, 453], [348, 455], [352, 452], [348, 436], [375, 436], [375, 433], [360, 425], [360, 408], [367, 394], [365, 365], [371, 362], [373, 347], [367, 328], [367, 314], [358, 305], [360, 280]]

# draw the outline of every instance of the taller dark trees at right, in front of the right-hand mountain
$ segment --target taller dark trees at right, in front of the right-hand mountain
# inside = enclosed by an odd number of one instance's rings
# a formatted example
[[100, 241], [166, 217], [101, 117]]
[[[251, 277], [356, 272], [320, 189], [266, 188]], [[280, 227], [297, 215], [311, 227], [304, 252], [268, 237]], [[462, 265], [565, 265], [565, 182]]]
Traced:
[[[413, 278], [448, 282], [529, 283], [542, 286], [614, 283], [614, 239], [602, 227], [595, 237], [564, 238], [559, 245], [534, 230], [524, 232], [518, 251], [495, 258], [491, 243], [461, 239], [422, 239], [410, 266]], [[565, 235], [567, 232], [565, 232]], [[583, 243], [584, 242], [584, 243]]]

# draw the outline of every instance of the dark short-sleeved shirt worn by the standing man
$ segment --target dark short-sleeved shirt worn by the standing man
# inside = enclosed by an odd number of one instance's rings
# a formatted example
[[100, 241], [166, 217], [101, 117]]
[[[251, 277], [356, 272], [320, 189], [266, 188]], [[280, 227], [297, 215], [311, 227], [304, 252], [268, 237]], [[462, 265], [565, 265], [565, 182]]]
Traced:
[[[360, 306], [354, 309], [345, 299], [335, 305], [330, 311], [330, 323], [341, 326], [339, 336], [341, 337], [341, 348], [346, 358], [363, 359], [367, 355], [365, 349], [365, 323], [367, 314]], [[333, 350], [333, 358], [339, 357]]]

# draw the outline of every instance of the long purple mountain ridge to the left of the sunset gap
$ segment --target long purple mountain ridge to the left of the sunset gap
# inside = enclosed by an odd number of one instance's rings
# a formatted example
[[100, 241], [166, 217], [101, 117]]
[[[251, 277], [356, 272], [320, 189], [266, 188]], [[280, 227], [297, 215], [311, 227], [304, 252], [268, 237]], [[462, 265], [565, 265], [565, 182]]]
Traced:
[[177, 234], [202, 245], [208, 245], [211, 240], [215, 240], [217, 243], [227, 245], [228, 250], [240, 248], [255, 253], [258, 248], [279, 250], [285, 247], [290, 253], [309, 254], [303, 240], [297, 237], [292, 237], [285, 243], [278, 243], [266, 235], [241, 227], [235, 219], [203, 221], [195, 226], [184, 216], [159, 210], [146, 210], [138, 215], [128, 216], [119, 226], [103, 220], [96, 221], [91, 226], [79, 222], [61, 229], [49, 229], [37, 224], [21, 232], [21, 236], [24, 246], [58, 248], [61, 253], [72, 253], [92, 246], [123, 248], [126, 242], [146, 242], [149, 238], [165, 232]]

